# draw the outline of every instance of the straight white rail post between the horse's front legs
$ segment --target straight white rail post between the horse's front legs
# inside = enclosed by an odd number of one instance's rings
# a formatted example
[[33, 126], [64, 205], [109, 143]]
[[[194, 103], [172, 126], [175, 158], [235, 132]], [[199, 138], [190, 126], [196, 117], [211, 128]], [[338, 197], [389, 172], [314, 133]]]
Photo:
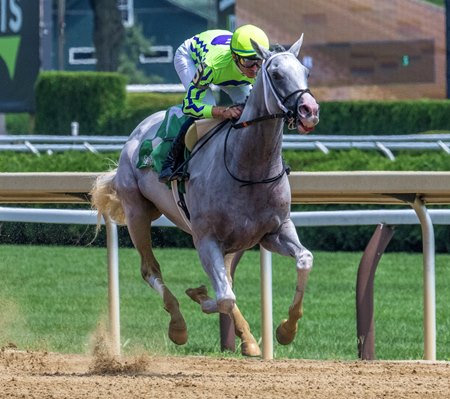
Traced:
[[272, 330], [272, 254], [260, 246], [261, 262], [261, 332], [264, 360], [273, 359]]

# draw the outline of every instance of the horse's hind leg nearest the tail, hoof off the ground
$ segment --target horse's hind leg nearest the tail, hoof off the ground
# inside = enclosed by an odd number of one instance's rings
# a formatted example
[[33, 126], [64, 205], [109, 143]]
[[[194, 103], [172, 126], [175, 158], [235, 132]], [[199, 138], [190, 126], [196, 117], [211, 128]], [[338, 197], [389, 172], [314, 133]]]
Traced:
[[127, 227], [134, 246], [141, 257], [142, 278], [154, 288], [164, 302], [164, 309], [170, 314], [169, 338], [177, 345], [187, 342], [187, 328], [180, 312], [178, 300], [164, 284], [161, 268], [153, 255], [151, 245], [151, 220], [160, 216], [154, 205], [137, 192], [128, 189], [126, 200], [122, 199]]

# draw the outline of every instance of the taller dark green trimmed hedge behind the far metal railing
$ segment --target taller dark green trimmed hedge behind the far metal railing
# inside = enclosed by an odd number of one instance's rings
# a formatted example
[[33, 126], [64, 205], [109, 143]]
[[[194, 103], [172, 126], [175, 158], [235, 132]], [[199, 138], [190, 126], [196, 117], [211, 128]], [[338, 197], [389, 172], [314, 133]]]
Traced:
[[[36, 84], [36, 127], [41, 134], [128, 135], [148, 115], [180, 104], [183, 94], [129, 93], [126, 78], [104, 72], [42, 72]], [[320, 99], [319, 99], [320, 100]], [[411, 134], [450, 130], [449, 100], [322, 102], [315, 134]]]

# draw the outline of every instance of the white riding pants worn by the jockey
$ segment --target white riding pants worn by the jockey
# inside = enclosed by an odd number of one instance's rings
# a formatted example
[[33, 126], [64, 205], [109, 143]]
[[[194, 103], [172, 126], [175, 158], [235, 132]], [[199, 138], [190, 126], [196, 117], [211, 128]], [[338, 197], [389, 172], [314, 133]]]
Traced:
[[[181, 83], [183, 84], [186, 90], [190, 86], [191, 81], [194, 78], [195, 73], [197, 72], [197, 68], [194, 64], [194, 60], [191, 58], [189, 50], [191, 40], [192, 39], [185, 40], [184, 43], [180, 47], [178, 47], [177, 51], [175, 52], [175, 56], [173, 58], [175, 70], [177, 71]], [[252, 88], [251, 85], [238, 87], [222, 87], [214, 85], [214, 87], [217, 87], [226, 94], [228, 94], [233, 104], [244, 103], [246, 98], [250, 94], [250, 90]], [[208, 105], [216, 105], [216, 100], [214, 98], [214, 94], [211, 88], [206, 90], [203, 102]]]

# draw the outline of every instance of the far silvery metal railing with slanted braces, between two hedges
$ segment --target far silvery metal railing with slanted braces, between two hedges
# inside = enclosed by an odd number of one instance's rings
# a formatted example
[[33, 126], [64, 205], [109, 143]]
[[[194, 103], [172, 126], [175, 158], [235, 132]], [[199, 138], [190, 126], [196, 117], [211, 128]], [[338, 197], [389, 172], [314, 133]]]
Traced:
[[[0, 136], [0, 151], [52, 154], [64, 151], [93, 153], [120, 151], [128, 136], [56, 136], [7, 135]], [[450, 133], [406, 135], [298, 135], [285, 134], [284, 150], [330, 151], [358, 149], [378, 151], [395, 160], [394, 151], [443, 151], [450, 154]]]

